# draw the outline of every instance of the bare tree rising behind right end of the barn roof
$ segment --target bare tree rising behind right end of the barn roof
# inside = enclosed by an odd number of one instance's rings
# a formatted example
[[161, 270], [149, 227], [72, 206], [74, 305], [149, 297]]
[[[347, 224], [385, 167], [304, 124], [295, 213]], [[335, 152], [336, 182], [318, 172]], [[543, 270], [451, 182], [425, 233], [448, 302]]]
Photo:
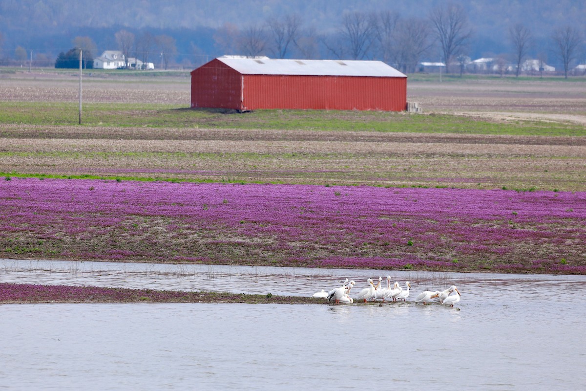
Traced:
[[397, 22], [390, 49], [401, 72], [414, 72], [421, 57], [431, 48], [431, 34], [424, 19], [407, 18]]

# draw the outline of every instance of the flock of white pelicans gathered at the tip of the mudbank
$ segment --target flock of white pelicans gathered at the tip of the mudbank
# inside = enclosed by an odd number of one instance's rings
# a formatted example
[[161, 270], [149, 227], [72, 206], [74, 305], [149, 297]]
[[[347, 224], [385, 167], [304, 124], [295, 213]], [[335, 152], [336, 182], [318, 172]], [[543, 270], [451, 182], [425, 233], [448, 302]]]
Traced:
[[[322, 289], [321, 292], [314, 293], [312, 297], [327, 298], [329, 301], [335, 302], [336, 304], [352, 304], [354, 301], [376, 302], [382, 300], [384, 302], [385, 299], [390, 299], [395, 302], [401, 300], [407, 302], [409, 288], [411, 288], [409, 281], [405, 281], [405, 288], [401, 288], [398, 282], [395, 282], [393, 288], [391, 288], [391, 276], [387, 276], [387, 287], [381, 288], [382, 280], [383, 277], [379, 277], [378, 284], [375, 285], [373, 279], [368, 278], [366, 280], [368, 286], [361, 290], [356, 298], [350, 297], [350, 290], [355, 287], [356, 283], [354, 281], [349, 281], [347, 278], [341, 287], [333, 288], [329, 293]], [[455, 285], [452, 285], [443, 291], [423, 291], [415, 297], [413, 302], [415, 304], [423, 305], [431, 302], [440, 302], [441, 304], [449, 305], [453, 308], [454, 304], [460, 301], [461, 296], [462, 294], [458, 288], [456, 288]]]

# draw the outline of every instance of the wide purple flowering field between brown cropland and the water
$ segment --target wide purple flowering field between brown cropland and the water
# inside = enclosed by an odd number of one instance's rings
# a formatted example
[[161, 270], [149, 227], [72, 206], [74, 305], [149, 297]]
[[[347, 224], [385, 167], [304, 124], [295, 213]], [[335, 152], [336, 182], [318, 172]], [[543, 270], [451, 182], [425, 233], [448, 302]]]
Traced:
[[586, 274], [586, 192], [12, 178], [5, 258]]

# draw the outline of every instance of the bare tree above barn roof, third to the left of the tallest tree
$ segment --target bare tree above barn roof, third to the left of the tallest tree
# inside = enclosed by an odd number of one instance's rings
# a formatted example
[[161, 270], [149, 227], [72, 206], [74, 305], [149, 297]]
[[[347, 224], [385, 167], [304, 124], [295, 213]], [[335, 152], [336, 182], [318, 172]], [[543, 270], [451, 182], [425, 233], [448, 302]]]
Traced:
[[345, 13], [342, 18], [341, 33], [347, 42], [350, 57], [362, 60], [369, 53], [373, 44], [374, 24], [372, 18], [364, 12]]

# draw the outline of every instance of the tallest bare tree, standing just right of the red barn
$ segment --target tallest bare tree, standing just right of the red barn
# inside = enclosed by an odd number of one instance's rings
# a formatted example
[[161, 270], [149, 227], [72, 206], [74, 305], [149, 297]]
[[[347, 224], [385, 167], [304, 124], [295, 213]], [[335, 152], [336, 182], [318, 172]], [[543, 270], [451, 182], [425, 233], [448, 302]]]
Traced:
[[460, 52], [472, 36], [468, 16], [461, 6], [448, 3], [432, 9], [429, 18], [435, 30], [435, 36], [440, 42], [445, 60], [445, 72], [449, 73], [452, 56]]

